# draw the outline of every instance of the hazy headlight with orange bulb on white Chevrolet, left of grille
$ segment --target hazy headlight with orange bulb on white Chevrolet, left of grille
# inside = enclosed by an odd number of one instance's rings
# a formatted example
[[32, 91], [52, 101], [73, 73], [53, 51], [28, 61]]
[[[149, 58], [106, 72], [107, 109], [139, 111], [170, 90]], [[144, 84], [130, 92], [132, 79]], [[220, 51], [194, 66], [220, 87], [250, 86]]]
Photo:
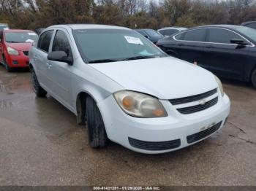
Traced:
[[121, 109], [133, 117], [167, 117], [161, 102], [150, 95], [128, 90], [122, 90], [113, 95]]

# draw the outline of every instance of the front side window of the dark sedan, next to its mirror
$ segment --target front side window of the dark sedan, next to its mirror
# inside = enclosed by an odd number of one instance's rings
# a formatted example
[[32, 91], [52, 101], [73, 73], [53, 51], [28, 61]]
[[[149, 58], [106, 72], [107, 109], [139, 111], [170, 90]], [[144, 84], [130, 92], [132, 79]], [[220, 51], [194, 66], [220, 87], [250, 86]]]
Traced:
[[221, 28], [211, 28], [209, 30], [208, 42], [230, 44], [231, 39], [241, 39], [241, 36]]

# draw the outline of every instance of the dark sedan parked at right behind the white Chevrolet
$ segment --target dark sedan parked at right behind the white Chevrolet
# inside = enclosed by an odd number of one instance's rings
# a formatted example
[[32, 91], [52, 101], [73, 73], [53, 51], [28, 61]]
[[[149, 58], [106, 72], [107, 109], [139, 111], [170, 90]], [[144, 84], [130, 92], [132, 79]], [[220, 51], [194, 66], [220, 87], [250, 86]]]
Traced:
[[256, 87], [255, 44], [255, 29], [228, 25], [190, 28], [157, 42], [169, 55]]

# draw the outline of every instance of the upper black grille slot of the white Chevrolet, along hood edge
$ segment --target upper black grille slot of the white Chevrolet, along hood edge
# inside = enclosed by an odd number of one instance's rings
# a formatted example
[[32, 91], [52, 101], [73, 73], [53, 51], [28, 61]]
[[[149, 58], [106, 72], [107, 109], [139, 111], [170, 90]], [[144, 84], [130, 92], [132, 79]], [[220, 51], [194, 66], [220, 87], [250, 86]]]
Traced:
[[170, 103], [173, 105], [178, 105], [178, 104], [186, 104], [192, 101], [199, 101], [203, 98], [207, 98], [211, 95], [214, 95], [214, 93], [217, 93], [217, 89], [208, 91], [206, 93], [201, 93], [201, 94], [197, 94], [197, 95], [192, 95], [189, 97], [185, 97], [185, 98], [176, 98], [176, 99], [170, 99]]

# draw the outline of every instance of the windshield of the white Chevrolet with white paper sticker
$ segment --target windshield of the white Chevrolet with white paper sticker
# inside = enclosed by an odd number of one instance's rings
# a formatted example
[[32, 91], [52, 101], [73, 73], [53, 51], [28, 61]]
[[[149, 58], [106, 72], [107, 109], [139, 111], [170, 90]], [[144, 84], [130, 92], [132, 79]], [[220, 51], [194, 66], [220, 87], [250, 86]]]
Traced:
[[75, 30], [73, 34], [83, 60], [89, 63], [167, 56], [148, 39], [132, 30], [83, 29]]

